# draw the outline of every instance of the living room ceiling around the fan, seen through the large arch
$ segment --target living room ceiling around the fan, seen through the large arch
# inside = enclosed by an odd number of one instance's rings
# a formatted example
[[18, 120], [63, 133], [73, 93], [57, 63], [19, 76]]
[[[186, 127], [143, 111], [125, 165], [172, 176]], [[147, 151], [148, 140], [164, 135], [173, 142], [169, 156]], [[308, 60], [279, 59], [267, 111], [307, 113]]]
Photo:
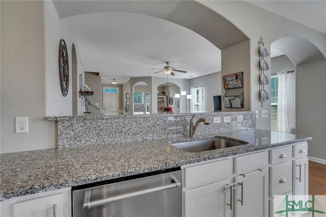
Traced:
[[[112, 78], [159, 76], [166, 62], [174, 78], [221, 71], [221, 50], [197, 33], [167, 20], [134, 13], [95, 13], [70, 18], [85, 71]], [[198, 64], [200, 63], [200, 64]], [[107, 77], [106, 77], [107, 76]]]

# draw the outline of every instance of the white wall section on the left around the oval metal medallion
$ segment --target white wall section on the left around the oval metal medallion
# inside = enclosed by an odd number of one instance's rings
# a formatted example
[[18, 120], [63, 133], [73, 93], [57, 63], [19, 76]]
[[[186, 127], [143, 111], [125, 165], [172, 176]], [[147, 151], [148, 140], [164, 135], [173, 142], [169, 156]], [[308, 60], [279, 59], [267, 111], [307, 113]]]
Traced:
[[[76, 43], [74, 33], [71, 28], [69, 18], [59, 19], [57, 11], [52, 1], [44, 1], [44, 32], [45, 32], [45, 110], [46, 116], [52, 115], [72, 115], [72, 94], [78, 96], [77, 114], [82, 115], [82, 98], [79, 98], [79, 74], [83, 74], [83, 83], [85, 83], [84, 67], [80, 63], [78, 44]], [[69, 57], [69, 89], [64, 97], [60, 88], [59, 77], [59, 42], [64, 39], [67, 45]], [[72, 90], [72, 44], [76, 49], [77, 59], [77, 86]]]

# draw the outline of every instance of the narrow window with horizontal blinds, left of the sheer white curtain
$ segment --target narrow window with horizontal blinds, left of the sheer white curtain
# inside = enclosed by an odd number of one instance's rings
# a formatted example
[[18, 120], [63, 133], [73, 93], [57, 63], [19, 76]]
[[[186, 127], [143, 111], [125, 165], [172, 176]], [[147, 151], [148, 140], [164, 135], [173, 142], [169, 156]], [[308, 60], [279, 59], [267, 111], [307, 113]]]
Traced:
[[277, 131], [278, 76], [270, 79], [270, 129]]

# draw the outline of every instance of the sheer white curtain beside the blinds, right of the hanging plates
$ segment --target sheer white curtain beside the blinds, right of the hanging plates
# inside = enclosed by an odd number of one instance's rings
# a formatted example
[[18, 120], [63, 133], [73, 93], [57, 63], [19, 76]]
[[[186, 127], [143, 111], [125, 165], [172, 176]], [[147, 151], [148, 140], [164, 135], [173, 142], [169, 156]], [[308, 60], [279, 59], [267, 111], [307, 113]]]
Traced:
[[294, 125], [294, 95], [292, 94], [292, 78], [289, 73], [278, 72], [278, 100], [277, 100], [277, 130], [293, 132]]

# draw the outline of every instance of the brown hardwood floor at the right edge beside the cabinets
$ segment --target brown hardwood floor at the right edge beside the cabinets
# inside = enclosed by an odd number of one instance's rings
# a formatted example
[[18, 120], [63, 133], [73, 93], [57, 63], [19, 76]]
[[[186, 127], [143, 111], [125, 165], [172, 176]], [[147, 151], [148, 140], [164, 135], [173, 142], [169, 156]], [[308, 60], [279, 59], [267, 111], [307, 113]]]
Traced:
[[309, 195], [326, 195], [326, 165], [309, 160]]

